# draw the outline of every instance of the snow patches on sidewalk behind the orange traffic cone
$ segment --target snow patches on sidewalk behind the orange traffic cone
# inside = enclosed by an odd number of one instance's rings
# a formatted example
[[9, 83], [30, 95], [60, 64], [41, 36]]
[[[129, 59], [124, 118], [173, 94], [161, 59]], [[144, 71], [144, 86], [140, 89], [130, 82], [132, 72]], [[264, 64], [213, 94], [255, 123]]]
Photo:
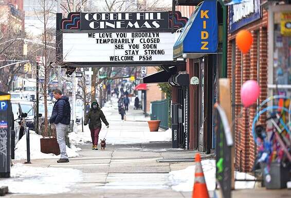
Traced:
[[[215, 160], [207, 159], [201, 161], [207, 189], [213, 191], [215, 189]], [[175, 191], [192, 191], [194, 185], [195, 165], [189, 166], [186, 169], [171, 171], [169, 180], [171, 181], [172, 189]], [[254, 179], [255, 177], [241, 172], [234, 172], [236, 179]], [[254, 188], [254, 182], [235, 182], [235, 189]]]

